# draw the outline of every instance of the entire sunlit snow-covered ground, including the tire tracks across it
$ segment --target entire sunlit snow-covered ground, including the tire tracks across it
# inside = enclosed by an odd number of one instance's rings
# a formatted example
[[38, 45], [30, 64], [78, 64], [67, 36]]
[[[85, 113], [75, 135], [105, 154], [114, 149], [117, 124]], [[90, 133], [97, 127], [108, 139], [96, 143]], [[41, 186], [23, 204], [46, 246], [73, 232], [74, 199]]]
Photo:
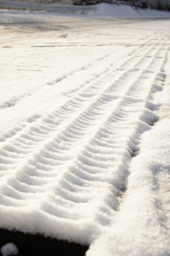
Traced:
[[169, 255], [170, 21], [0, 25], [0, 228]]

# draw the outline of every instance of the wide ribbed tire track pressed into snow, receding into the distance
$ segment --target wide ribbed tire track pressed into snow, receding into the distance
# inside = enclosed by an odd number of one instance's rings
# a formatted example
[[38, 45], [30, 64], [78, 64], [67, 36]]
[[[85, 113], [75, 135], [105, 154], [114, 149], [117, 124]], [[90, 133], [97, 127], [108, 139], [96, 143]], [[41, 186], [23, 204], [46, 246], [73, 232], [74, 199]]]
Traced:
[[[164, 44], [149, 48], [150, 58], [143, 57], [146, 48], [140, 57], [134, 53], [55, 112], [2, 143], [3, 207], [22, 211], [35, 204], [52, 223], [71, 220], [77, 230], [81, 219], [100, 223], [101, 230], [112, 221], [126, 189], [129, 161], [140, 134], [148, 129], [147, 119], [154, 116], [147, 101], [164, 65]], [[69, 236], [79, 239], [78, 231]], [[84, 239], [88, 243], [90, 238]]]

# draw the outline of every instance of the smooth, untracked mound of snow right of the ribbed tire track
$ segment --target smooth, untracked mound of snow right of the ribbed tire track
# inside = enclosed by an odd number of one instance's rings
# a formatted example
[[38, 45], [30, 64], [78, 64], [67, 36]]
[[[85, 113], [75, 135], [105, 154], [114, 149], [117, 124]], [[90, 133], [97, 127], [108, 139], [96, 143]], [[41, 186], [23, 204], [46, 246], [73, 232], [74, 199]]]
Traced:
[[87, 256], [168, 255], [169, 141], [170, 120], [143, 134], [140, 154], [130, 165], [120, 213], [108, 232], [92, 244]]

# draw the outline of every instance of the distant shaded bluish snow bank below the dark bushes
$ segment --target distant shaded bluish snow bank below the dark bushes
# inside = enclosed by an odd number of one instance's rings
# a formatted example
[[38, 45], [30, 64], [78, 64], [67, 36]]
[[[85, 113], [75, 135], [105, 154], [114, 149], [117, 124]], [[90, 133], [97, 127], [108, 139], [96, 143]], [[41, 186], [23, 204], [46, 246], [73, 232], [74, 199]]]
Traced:
[[23, 3], [19, 1], [2, 0], [0, 8], [14, 8], [25, 10], [39, 10], [57, 12], [63, 16], [98, 17], [98, 18], [124, 18], [124, 19], [150, 19], [170, 18], [170, 12], [150, 9], [134, 8], [127, 5], [98, 4], [92, 6], [74, 6], [57, 4]]

